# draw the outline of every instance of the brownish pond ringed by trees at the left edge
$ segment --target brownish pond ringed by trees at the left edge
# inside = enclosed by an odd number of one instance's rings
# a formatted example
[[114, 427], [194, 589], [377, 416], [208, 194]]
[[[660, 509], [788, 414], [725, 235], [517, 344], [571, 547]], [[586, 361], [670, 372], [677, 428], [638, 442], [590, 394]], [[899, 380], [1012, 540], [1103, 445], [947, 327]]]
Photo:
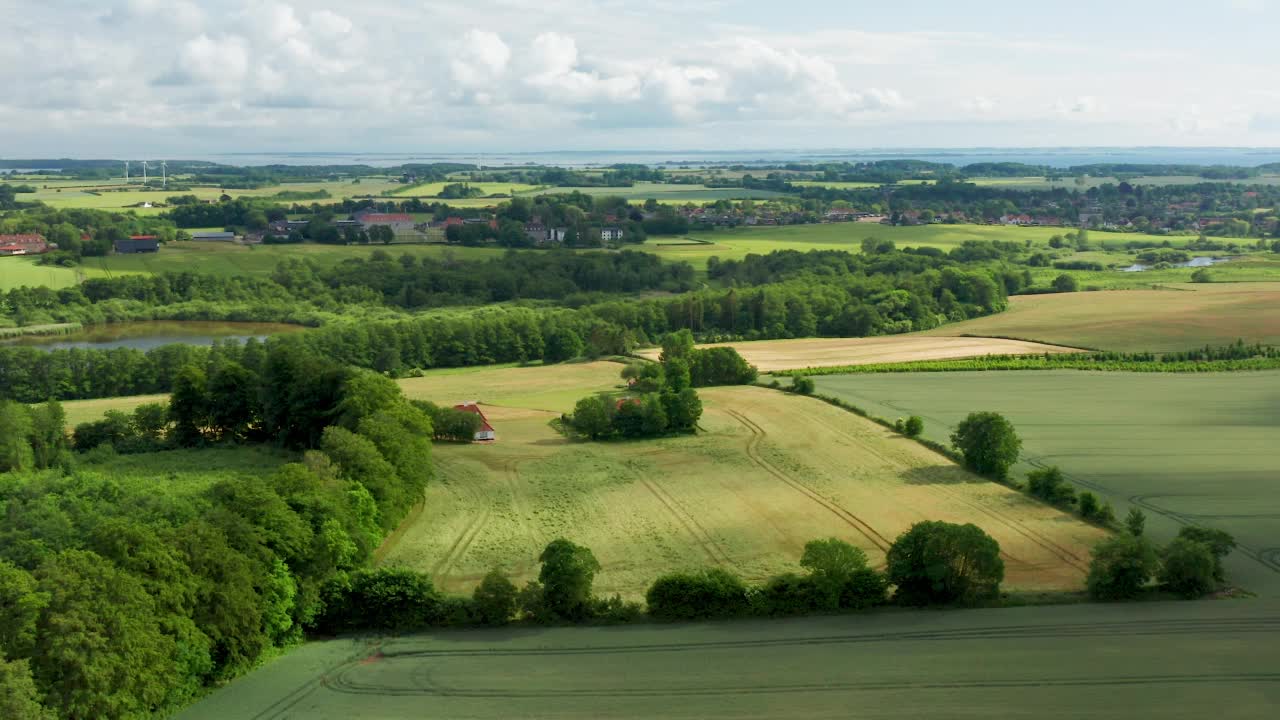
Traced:
[[285, 323], [230, 323], [211, 320], [148, 320], [137, 323], [111, 323], [87, 325], [70, 334], [24, 336], [0, 341], [0, 345], [23, 345], [41, 350], [69, 350], [72, 347], [109, 350], [132, 347], [151, 350], [161, 345], [212, 345], [219, 340], [244, 341], [251, 337], [298, 332], [301, 325]]

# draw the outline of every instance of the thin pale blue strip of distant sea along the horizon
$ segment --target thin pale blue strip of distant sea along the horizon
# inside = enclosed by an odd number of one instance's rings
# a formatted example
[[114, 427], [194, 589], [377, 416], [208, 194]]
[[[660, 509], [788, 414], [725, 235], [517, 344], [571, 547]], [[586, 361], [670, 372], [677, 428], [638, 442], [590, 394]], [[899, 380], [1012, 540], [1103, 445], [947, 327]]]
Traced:
[[778, 163], [929, 160], [1025, 163], [1066, 168], [1096, 163], [1147, 163], [1254, 167], [1280, 163], [1280, 147], [883, 147], [865, 150], [582, 150], [545, 152], [227, 152], [183, 156], [229, 165], [372, 165], [406, 163], [467, 163], [485, 167], [558, 165], [588, 168], [635, 163], [681, 167], [708, 164], [773, 165]]

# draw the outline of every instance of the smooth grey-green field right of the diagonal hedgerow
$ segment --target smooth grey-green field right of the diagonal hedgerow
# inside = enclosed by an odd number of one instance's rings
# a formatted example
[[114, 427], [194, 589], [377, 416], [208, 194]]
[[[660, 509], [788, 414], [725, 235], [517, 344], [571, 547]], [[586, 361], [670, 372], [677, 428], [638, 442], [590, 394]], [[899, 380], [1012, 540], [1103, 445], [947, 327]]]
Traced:
[[826, 375], [818, 391], [882, 418], [920, 415], [947, 442], [975, 410], [1023, 438], [1021, 471], [1059, 465], [1082, 489], [1148, 515], [1161, 541], [1179, 524], [1233, 533], [1234, 582], [1280, 596], [1280, 372], [1146, 374], [1047, 370]]

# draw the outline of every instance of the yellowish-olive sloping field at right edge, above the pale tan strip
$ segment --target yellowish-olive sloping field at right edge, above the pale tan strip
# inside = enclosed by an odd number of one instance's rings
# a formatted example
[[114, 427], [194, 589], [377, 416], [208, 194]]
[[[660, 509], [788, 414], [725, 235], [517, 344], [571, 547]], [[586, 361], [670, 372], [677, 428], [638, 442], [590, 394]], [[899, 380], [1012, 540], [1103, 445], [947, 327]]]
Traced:
[[1009, 310], [931, 336], [1016, 337], [1098, 350], [1170, 352], [1236, 340], [1280, 343], [1280, 283], [1175, 284], [1165, 290], [1011, 297]]

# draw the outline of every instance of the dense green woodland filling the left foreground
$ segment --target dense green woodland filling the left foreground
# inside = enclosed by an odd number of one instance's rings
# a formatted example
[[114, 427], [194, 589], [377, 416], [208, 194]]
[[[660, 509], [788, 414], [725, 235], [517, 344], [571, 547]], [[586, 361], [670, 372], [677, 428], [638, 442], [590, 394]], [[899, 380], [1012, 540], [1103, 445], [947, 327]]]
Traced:
[[[133, 442], [261, 441], [296, 461], [157, 486], [82, 462], [114, 441], [81, 457], [50, 446], [64, 438], [56, 405], [0, 406], [0, 694], [26, 716], [42, 716], [36, 701], [58, 717], [168, 714], [251, 669], [335, 612], [332, 580], [367, 564], [431, 475], [422, 409], [387, 378], [297, 348], [256, 370], [187, 368], [160, 410], [127, 418]], [[77, 446], [91, 437], [81, 425]]]

